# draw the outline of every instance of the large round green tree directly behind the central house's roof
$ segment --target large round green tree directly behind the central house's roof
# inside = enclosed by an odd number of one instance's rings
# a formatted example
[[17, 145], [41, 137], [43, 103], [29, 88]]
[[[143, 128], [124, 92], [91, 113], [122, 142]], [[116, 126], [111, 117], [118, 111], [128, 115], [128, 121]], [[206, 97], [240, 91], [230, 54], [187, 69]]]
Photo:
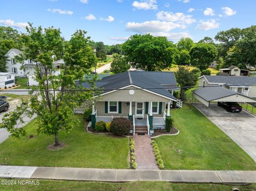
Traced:
[[122, 46], [127, 60], [134, 68], [147, 71], [163, 70], [175, 64], [179, 52], [166, 37], [133, 35]]

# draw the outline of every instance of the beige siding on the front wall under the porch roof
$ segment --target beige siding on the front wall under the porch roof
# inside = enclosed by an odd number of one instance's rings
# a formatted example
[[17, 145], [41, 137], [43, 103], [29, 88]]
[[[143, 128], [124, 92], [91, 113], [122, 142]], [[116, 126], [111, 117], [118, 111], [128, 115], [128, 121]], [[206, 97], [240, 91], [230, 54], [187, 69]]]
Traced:
[[[144, 103], [144, 117], [146, 118], [146, 102]], [[126, 102], [122, 102], [122, 113], [105, 113], [105, 102], [95, 103], [95, 109], [97, 110], [98, 116], [119, 116], [127, 117], [129, 115], [130, 106], [126, 105]], [[163, 112], [165, 111], [165, 102], [162, 104], [162, 114], [153, 114], [154, 117], [163, 117]], [[148, 110], [149, 112], [149, 110]], [[132, 115], [135, 114], [135, 102], [132, 102]]]

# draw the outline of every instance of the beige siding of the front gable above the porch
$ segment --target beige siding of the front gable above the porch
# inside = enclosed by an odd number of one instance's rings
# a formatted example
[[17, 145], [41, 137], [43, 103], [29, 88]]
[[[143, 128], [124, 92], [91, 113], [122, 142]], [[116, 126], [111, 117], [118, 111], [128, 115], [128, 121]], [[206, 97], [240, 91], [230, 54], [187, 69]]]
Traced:
[[99, 101], [117, 101], [117, 102], [170, 102], [170, 99], [146, 92], [145, 90], [135, 89], [134, 94], [129, 94], [129, 89], [117, 90], [112, 93], [101, 95]]

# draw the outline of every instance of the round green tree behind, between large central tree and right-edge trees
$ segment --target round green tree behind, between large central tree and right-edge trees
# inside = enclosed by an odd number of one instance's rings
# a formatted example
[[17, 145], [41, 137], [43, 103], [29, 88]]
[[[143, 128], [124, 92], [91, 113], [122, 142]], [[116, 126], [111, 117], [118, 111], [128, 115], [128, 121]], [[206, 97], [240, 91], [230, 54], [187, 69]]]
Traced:
[[200, 43], [190, 50], [191, 64], [201, 71], [209, 68], [217, 56], [217, 48], [212, 44]]

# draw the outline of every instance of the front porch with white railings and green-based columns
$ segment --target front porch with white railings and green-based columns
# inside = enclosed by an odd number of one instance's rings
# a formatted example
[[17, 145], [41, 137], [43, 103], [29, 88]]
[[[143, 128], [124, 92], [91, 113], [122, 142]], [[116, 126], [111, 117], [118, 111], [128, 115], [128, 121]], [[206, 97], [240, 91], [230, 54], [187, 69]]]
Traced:
[[[105, 105], [105, 106], [103, 106]], [[165, 107], [167, 105], [167, 114]], [[102, 107], [105, 107], [102, 108]], [[154, 129], [165, 129], [165, 119], [170, 117], [171, 102], [97, 102], [92, 106], [92, 127], [98, 121], [111, 122], [115, 118], [130, 119], [135, 134], [145, 128], [149, 135]], [[98, 112], [99, 111], [99, 112]], [[102, 111], [105, 111], [103, 113]]]

